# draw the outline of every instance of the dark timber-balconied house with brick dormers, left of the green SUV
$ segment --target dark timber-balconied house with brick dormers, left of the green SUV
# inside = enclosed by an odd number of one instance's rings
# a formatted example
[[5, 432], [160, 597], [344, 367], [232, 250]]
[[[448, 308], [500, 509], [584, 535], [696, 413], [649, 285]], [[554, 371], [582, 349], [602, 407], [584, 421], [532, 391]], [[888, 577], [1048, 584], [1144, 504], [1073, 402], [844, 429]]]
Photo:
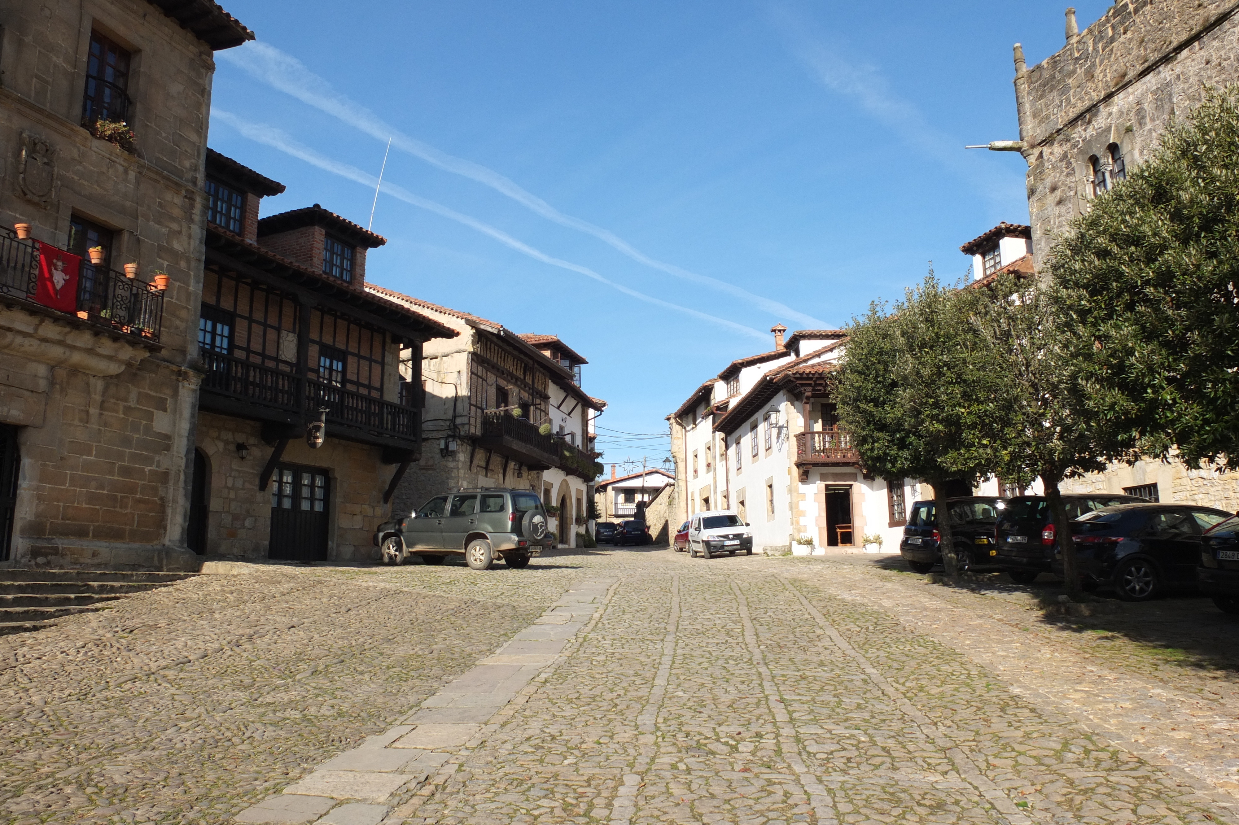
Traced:
[[421, 347], [457, 333], [367, 291], [379, 235], [317, 203], [260, 218], [284, 187], [217, 152], [204, 190], [190, 545], [369, 561], [421, 456]]

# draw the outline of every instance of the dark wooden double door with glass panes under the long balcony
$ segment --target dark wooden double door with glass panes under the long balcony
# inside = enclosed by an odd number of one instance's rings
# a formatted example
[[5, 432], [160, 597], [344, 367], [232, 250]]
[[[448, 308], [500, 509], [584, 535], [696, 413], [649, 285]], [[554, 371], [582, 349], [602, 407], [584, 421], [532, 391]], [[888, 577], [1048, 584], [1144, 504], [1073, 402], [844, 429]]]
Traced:
[[317, 467], [279, 465], [271, 477], [269, 559], [326, 561], [331, 479]]

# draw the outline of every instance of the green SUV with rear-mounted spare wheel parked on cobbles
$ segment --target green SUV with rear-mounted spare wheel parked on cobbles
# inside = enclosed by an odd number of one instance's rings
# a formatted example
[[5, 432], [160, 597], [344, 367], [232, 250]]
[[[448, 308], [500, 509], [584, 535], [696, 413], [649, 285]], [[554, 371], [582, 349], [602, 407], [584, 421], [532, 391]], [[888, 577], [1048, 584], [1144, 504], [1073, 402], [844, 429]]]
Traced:
[[541, 499], [528, 489], [504, 487], [436, 495], [406, 518], [384, 522], [374, 534], [389, 565], [410, 556], [441, 565], [450, 555], [463, 555], [473, 570], [488, 570], [498, 559], [509, 567], [528, 567], [545, 540]]

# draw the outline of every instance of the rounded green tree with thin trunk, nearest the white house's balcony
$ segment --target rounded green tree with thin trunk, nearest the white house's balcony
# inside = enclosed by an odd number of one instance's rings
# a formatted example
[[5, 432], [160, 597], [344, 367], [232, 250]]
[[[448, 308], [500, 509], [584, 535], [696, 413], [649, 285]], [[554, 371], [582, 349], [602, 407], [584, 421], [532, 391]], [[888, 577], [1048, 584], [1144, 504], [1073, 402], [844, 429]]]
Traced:
[[934, 491], [943, 564], [958, 575], [947, 517], [947, 482], [975, 483], [992, 471], [995, 398], [1001, 377], [969, 318], [981, 295], [929, 276], [887, 313], [870, 306], [852, 320], [836, 385], [840, 424], [865, 469], [883, 478], [923, 478]]

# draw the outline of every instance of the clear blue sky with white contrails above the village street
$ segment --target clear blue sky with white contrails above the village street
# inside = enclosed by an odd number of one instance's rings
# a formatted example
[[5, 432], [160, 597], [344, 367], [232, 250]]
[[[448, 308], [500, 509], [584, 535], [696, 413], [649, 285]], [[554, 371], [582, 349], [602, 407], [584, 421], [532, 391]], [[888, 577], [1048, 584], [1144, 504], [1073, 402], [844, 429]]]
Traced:
[[[1079, 0], [1080, 27], [1108, 7]], [[774, 323], [844, 326], [959, 244], [1027, 220], [1011, 45], [1030, 2], [228, 0], [211, 145], [388, 244], [367, 277], [554, 333], [601, 427], [663, 417]], [[600, 439], [605, 462], [658, 439]]]

